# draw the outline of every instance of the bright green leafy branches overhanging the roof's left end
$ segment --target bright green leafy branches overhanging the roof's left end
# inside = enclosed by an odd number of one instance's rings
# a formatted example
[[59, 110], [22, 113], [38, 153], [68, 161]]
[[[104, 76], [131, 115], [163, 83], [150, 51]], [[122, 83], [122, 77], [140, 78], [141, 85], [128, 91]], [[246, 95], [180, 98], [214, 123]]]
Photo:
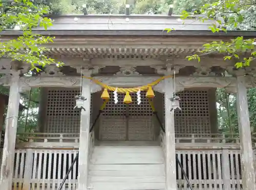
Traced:
[[38, 25], [46, 30], [52, 25], [51, 19], [44, 17], [47, 13], [49, 8], [44, 4], [33, 4], [29, 0], [0, 0], [0, 31], [14, 29], [24, 32], [16, 39], [0, 42], [0, 58], [23, 61], [32, 69], [37, 65], [55, 63], [42, 53], [46, 50], [43, 44], [53, 42], [53, 38], [32, 31]]

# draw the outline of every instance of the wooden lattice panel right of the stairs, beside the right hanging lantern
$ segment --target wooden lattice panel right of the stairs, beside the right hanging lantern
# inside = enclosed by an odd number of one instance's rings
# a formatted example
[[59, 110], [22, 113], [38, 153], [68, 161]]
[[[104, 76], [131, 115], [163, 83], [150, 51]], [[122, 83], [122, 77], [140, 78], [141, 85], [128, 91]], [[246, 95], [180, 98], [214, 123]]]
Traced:
[[186, 90], [177, 95], [182, 111], [175, 112], [176, 133], [210, 133], [209, 91]]

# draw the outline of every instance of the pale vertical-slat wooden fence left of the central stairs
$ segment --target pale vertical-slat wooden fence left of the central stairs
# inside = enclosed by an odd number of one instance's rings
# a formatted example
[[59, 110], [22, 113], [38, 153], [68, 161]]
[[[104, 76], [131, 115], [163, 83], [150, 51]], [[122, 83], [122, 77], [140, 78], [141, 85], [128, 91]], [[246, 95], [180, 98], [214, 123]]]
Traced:
[[[56, 189], [71, 166], [77, 151], [72, 150], [16, 150], [13, 190]], [[78, 165], [75, 164], [63, 189], [75, 190]]]

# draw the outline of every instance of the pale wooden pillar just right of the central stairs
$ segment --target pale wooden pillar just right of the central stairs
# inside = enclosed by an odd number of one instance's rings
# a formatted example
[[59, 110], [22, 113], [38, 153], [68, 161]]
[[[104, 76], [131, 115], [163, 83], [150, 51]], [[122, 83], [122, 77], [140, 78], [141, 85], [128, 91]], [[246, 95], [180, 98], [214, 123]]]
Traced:
[[174, 126], [174, 110], [172, 110], [173, 97], [173, 78], [165, 79], [164, 87], [164, 103], [165, 103], [165, 174], [166, 174], [166, 190], [176, 190], [176, 152], [175, 152], [175, 126]]

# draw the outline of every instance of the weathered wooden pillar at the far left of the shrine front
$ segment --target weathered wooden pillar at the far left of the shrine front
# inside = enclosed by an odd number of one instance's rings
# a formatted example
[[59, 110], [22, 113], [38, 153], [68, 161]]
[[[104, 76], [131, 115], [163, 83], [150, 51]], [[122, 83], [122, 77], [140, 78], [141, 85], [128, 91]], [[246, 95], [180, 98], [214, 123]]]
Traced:
[[19, 76], [17, 73], [15, 73], [11, 78], [10, 83], [10, 95], [6, 115], [5, 141], [1, 166], [0, 186], [1, 189], [5, 190], [12, 189], [14, 151], [20, 99], [19, 90]]

